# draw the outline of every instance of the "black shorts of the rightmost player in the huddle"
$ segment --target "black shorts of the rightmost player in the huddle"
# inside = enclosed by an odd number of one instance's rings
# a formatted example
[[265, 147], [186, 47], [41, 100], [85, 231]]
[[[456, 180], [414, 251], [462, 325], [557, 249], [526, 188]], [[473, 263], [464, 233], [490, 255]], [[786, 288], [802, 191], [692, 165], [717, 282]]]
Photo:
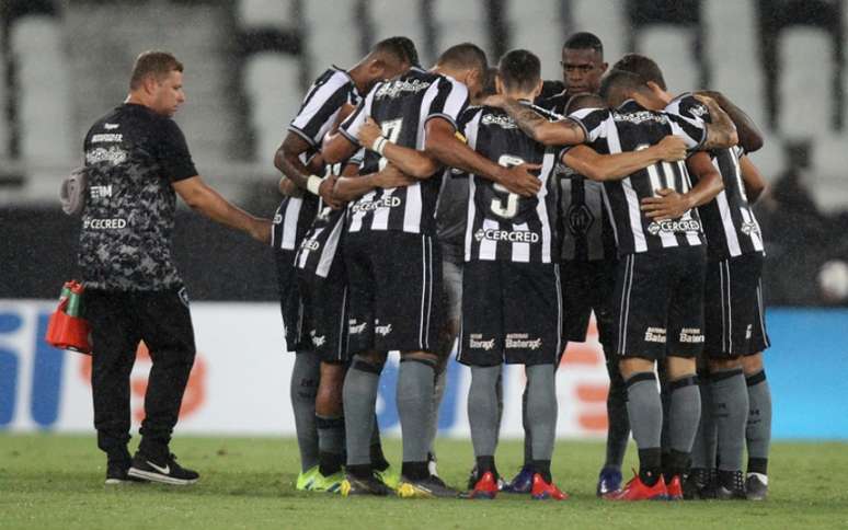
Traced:
[[761, 276], [761, 253], [707, 264], [703, 350], [710, 358], [754, 355], [769, 347]]

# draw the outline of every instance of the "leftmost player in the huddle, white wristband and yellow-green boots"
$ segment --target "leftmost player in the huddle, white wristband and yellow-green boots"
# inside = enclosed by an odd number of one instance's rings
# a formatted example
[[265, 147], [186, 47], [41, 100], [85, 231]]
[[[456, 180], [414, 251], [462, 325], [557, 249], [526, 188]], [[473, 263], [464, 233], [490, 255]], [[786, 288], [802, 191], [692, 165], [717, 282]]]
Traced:
[[[325, 388], [330, 388], [334, 381], [339, 385], [344, 365], [322, 368], [321, 357], [311, 352], [314, 343], [312, 337], [303, 333], [303, 303], [295, 267], [295, 254], [319, 211], [320, 201], [339, 207], [339, 201], [332, 195], [334, 178], [322, 178], [314, 174], [324, 174], [324, 163], [319, 152], [321, 140], [337, 123], [344, 106], [356, 105], [362, 94], [367, 93], [375, 83], [409, 69], [408, 49], [411, 43], [408, 41], [405, 37], [387, 38], [377, 43], [351, 70], [333, 67], [323, 72], [307, 92], [274, 157], [274, 164], [284, 174], [280, 189], [287, 192], [274, 216], [273, 246], [286, 344], [290, 350], [296, 352], [290, 396], [300, 449], [298, 489], [312, 489], [316, 485], [321, 488], [319, 484], [325, 483], [319, 469], [321, 438], [324, 438], [325, 459], [328, 454], [342, 452], [339, 440], [344, 438], [343, 425], [334, 414], [316, 417], [316, 399], [321, 377], [328, 381]], [[326, 393], [323, 395], [326, 396]], [[334, 464], [325, 462], [324, 471], [333, 474], [333, 469]]]

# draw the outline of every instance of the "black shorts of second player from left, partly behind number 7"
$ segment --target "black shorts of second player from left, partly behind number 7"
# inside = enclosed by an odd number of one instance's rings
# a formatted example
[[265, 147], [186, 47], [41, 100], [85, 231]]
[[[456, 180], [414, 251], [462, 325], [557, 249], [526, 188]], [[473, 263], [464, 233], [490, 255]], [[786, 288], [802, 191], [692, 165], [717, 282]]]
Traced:
[[303, 335], [324, 362], [345, 364], [347, 356], [347, 274], [335, 260], [326, 278], [298, 268], [303, 301]]

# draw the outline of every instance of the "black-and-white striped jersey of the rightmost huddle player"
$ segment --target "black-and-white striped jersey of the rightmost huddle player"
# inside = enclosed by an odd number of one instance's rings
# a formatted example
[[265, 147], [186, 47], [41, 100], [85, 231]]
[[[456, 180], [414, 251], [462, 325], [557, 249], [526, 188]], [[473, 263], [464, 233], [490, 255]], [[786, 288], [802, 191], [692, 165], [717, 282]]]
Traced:
[[[690, 94], [674, 100], [666, 112], [694, 120], [710, 122], [707, 107]], [[765, 251], [763, 232], [748, 204], [742, 178], [740, 159], [743, 155], [744, 151], [738, 146], [710, 151], [712, 163], [724, 182], [724, 189], [713, 200], [698, 207], [710, 260], [720, 261]]]

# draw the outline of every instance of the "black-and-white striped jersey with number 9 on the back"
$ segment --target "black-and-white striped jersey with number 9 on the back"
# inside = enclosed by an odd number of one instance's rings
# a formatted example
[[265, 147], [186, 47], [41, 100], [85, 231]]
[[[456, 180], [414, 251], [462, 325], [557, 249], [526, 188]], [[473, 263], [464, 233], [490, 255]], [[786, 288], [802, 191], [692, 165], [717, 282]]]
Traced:
[[469, 176], [465, 260], [557, 261], [557, 194], [551, 186], [557, 165], [554, 150], [525, 135], [500, 108], [479, 108], [466, 125], [465, 135], [469, 147], [501, 165], [542, 165], [542, 186], [534, 197], [511, 193], [479, 175]]

